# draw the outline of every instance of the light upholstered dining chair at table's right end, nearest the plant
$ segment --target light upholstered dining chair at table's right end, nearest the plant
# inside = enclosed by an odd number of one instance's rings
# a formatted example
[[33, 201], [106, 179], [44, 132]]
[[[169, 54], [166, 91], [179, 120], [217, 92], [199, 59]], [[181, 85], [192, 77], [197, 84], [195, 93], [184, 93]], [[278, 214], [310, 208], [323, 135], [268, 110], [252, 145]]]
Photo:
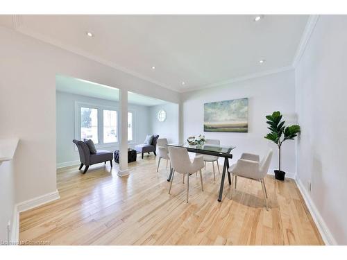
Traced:
[[265, 207], [268, 209], [267, 205], [267, 192], [264, 182], [264, 177], [269, 171], [269, 166], [271, 162], [272, 157], [272, 149], [269, 150], [266, 156], [259, 161], [259, 155], [253, 155], [250, 153], [243, 153], [241, 155], [241, 158], [237, 160], [236, 164], [232, 164], [230, 168], [228, 168], [228, 172], [232, 174], [231, 176], [231, 189], [230, 189], [230, 200], [232, 196], [232, 186], [235, 179], [235, 189], [236, 189], [236, 182], [237, 182], [237, 176], [245, 177], [251, 180], [257, 180], [262, 184], [262, 191], [264, 195], [264, 201], [265, 201]]

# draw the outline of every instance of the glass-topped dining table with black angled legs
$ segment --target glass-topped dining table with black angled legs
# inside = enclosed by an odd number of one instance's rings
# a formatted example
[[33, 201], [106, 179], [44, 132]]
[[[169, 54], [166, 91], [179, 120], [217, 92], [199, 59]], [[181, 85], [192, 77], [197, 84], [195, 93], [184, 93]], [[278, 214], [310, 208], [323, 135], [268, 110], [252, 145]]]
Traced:
[[[201, 155], [212, 155], [212, 156], [224, 158], [223, 173], [221, 175], [221, 187], [219, 188], [219, 196], [218, 196], [218, 201], [221, 202], [221, 198], [223, 196], [223, 187], [224, 187], [224, 180], [226, 177], [226, 173], [228, 173], [228, 181], [229, 181], [229, 185], [231, 185], [231, 177], [230, 177], [230, 173], [228, 172], [228, 168], [229, 168], [229, 159], [232, 159], [231, 151], [235, 149], [235, 146], [220, 146], [220, 145], [212, 145], [212, 144], [190, 145], [188, 143], [168, 144], [168, 146], [183, 147], [183, 148], [186, 148], [188, 152], [191, 152], [191, 153], [198, 153]], [[168, 182], [171, 180], [172, 172], [173, 172], [173, 169], [171, 168], [169, 177], [167, 178]]]

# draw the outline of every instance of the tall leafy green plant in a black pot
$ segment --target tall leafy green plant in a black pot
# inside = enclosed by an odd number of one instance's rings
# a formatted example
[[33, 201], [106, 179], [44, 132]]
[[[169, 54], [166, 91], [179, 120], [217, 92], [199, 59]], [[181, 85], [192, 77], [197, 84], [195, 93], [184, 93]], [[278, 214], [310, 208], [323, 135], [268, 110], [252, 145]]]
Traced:
[[[271, 131], [266, 135], [266, 139], [273, 141], [278, 146], [278, 170], [275, 170], [276, 180], [285, 180], [285, 172], [281, 171], [281, 146], [286, 140], [294, 140], [294, 137], [300, 132], [299, 125], [285, 126], [285, 121], [282, 120], [282, 114], [279, 111], [273, 112], [271, 115], [266, 116], [266, 121]], [[282, 137], [283, 135], [283, 137]]]

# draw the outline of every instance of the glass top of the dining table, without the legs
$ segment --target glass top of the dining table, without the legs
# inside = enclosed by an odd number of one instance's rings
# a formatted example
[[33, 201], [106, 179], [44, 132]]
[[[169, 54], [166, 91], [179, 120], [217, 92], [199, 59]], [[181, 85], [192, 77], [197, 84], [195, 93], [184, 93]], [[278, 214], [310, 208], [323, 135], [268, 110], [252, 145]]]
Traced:
[[221, 155], [228, 155], [232, 149], [235, 149], [235, 146], [221, 146], [215, 144], [191, 145], [187, 142], [184, 144], [168, 144], [168, 146], [187, 148], [189, 152], [193, 153], [219, 153]]

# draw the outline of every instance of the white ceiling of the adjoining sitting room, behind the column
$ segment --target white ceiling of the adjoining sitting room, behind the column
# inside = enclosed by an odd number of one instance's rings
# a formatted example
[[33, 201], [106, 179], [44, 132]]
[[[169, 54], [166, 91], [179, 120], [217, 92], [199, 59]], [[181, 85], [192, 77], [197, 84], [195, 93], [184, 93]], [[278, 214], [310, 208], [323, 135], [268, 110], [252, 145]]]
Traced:
[[[92, 98], [101, 98], [109, 101], [119, 101], [119, 89], [109, 87], [98, 83], [92, 83], [87, 80], [71, 78], [67, 76], [56, 76], [56, 90], [70, 94], [90, 96]], [[133, 92], [128, 92], [128, 103], [135, 105], [163, 105], [168, 103], [157, 98], [150, 98]]]

